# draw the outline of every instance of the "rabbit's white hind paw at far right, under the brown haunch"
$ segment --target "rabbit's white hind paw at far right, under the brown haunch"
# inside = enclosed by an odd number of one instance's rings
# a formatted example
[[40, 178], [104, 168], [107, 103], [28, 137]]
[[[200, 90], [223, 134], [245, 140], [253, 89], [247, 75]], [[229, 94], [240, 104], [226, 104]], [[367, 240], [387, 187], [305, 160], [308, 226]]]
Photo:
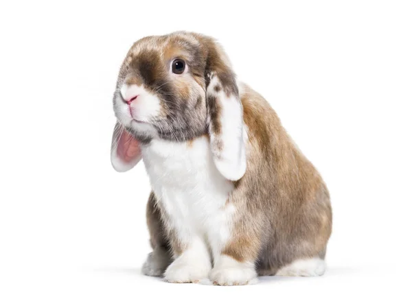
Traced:
[[281, 268], [277, 276], [320, 276], [325, 273], [326, 265], [323, 259], [298, 259]]

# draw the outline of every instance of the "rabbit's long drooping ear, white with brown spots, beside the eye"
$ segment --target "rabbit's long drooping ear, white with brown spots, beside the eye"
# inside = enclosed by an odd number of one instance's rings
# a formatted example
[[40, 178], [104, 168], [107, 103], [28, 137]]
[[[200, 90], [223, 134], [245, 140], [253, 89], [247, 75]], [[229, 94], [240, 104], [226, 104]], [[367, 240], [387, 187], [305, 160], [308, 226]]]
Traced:
[[206, 102], [214, 163], [228, 180], [239, 180], [246, 171], [243, 108], [236, 75], [224, 51], [209, 46], [206, 62]]

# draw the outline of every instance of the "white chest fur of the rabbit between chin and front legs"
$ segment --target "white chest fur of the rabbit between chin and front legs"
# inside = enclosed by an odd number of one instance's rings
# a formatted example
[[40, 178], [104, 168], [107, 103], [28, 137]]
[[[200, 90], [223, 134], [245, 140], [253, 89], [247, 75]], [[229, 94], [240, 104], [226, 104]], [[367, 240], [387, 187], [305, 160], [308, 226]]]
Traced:
[[190, 143], [153, 140], [142, 147], [152, 189], [179, 239], [203, 239], [212, 251], [229, 238], [233, 184], [214, 165], [206, 136]]

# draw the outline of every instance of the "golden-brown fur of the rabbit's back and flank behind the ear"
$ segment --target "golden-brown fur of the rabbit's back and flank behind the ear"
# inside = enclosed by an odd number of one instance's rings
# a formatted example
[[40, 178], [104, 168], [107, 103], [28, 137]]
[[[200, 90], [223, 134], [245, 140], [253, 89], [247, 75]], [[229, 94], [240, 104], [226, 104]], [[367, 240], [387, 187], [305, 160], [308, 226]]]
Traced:
[[[266, 275], [295, 259], [323, 259], [332, 230], [323, 180], [267, 101], [247, 86], [241, 96], [249, 154], [247, 173], [230, 198], [240, 213], [225, 253], [239, 261], [256, 261], [260, 274]], [[242, 254], [236, 252], [239, 248]]]

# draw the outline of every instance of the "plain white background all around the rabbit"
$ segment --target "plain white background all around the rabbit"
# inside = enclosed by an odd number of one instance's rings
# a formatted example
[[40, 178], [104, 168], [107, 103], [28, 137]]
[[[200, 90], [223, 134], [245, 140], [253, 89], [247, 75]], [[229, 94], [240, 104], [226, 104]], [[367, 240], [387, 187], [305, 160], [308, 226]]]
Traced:
[[[411, 296], [410, 1], [103, 2], [1, 3], [1, 298]], [[139, 274], [150, 186], [111, 167], [112, 95], [135, 40], [181, 29], [220, 40], [328, 184], [324, 276]]]

